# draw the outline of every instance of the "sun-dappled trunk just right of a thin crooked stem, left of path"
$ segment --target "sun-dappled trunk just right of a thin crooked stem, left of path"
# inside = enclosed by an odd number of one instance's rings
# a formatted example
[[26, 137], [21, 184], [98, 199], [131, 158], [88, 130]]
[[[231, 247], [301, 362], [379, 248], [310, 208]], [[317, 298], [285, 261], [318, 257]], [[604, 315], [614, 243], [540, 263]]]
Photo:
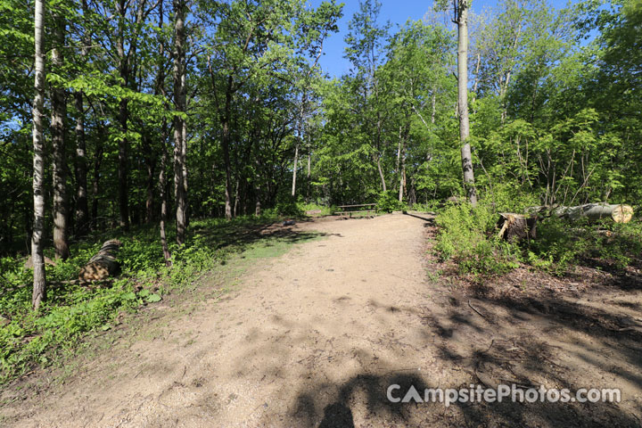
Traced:
[[[174, 102], [185, 113], [185, 0], [174, 0]], [[185, 118], [174, 118], [174, 188], [177, 202], [177, 243], [185, 243], [187, 226], [185, 188]]]

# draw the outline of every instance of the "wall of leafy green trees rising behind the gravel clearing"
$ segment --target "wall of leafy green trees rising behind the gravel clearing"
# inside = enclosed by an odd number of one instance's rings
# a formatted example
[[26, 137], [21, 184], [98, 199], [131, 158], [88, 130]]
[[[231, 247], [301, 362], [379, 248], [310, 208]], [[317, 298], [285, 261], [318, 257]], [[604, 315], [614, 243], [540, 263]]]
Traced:
[[[0, 3], [4, 253], [29, 252], [33, 228], [33, 7]], [[46, 2], [45, 238], [65, 257], [90, 230], [157, 221], [164, 199], [185, 224], [292, 197], [412, 206], [465, 193], [450, 14], [392, 29], [379, 9], [361, 3], [350, 73], [328, 78], [334, 2]], [[506, 0], [469, 18], [482, 199], [639, 201], [641, 21], [636, 0]]]

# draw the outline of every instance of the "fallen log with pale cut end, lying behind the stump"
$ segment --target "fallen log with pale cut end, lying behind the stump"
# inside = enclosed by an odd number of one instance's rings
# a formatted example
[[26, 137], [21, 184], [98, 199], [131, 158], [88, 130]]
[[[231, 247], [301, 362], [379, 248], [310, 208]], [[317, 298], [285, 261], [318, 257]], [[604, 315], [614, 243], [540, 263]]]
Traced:
[[588, 218], [589, 220], [599, 220], [601, 218], [611, 219], [615, 223], [628, 223], [633, 218], [633, 209], [630, 205], [612, 204], [612, 203], [587, 203], [577, 207], [531, 207], [526, 209], [533, 214], [544, 214], [577, 220], [579, 218]]

